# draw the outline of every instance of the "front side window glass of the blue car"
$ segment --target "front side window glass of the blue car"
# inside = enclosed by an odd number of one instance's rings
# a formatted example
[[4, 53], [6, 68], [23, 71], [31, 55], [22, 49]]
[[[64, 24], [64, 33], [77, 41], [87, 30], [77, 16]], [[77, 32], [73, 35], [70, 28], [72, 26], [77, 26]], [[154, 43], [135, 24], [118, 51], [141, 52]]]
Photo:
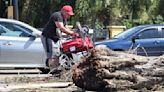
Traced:
[[139, 39], [151, 39], [151, 38], [160, 38], [158, 34], [158, 29], [146, 29], [138, 34]]

